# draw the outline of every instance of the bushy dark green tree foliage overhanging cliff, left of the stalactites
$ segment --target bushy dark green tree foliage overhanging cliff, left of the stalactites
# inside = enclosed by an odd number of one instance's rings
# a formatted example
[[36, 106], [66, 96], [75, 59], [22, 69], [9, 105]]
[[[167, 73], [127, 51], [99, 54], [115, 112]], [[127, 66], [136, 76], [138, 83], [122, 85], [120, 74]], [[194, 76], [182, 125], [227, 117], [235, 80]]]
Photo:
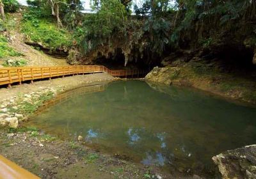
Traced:
[[125, 6], [118, 0], [101, 1], [100, 9], [95, 14], [86, 15], [83, 23], [85, 52], [107, 42], [111, 36], [124, 35], [127, 21]]

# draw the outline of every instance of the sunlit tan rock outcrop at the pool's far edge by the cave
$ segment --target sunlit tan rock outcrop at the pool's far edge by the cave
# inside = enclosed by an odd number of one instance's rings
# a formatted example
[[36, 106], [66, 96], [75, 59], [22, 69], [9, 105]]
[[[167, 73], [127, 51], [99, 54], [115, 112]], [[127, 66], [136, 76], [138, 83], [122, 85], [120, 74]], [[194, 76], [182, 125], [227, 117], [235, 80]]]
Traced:
[[158, 68], [155, 67], [151, 72], [147, 74], [145, 79], [147, 81], [162, 82], [164, 84], [172, 84], [172, 82], [179, 77], [180, 68], [168, 67], [168, 68]]

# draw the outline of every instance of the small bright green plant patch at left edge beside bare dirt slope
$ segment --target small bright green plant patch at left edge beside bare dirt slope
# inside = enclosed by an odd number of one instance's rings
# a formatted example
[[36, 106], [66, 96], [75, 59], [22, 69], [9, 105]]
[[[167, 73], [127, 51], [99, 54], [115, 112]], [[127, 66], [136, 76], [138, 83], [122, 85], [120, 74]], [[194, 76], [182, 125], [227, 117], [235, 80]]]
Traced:
[[7, 56], [22, 56], [22, 54], [15, 51], [12, 47], [9, 47], [6, 37], [0, 35], [0, 58]]

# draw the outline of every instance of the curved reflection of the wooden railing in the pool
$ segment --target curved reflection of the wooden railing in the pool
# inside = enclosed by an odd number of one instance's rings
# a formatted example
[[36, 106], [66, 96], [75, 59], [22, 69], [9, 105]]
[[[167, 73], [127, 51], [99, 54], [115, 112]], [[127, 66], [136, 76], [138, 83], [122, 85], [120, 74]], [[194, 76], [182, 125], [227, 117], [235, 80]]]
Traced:
[[97, 85], [93, 85], [93, 86], [83, 86], [80, 88], [72, 89], [65, 93], [61, 93], [57, 97], [46, 102], [44, 106], [42, 106], [42, 107], [40, 107], [40, 109], [38, 109], [38, 112], [44, 111], [49, 106], [59, 104], [61, 102], [65, 102], [69, 97], [72, 97], [74, 95], [80, 96], [80, 95], [84, 95], [84, 94], [88, 94], [88, 93], [104, 91], [106, 86], [108, 86], [108, 84], [97, 84]]

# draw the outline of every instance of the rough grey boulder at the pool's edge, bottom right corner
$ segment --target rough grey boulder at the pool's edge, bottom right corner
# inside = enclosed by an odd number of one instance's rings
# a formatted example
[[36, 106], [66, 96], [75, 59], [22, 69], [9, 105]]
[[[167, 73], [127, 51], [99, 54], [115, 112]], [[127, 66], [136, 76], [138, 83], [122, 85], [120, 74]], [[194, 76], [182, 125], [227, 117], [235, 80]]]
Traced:
[[212, 157], [223, 179], [256, 178], [256, 145], [228, 150]]

